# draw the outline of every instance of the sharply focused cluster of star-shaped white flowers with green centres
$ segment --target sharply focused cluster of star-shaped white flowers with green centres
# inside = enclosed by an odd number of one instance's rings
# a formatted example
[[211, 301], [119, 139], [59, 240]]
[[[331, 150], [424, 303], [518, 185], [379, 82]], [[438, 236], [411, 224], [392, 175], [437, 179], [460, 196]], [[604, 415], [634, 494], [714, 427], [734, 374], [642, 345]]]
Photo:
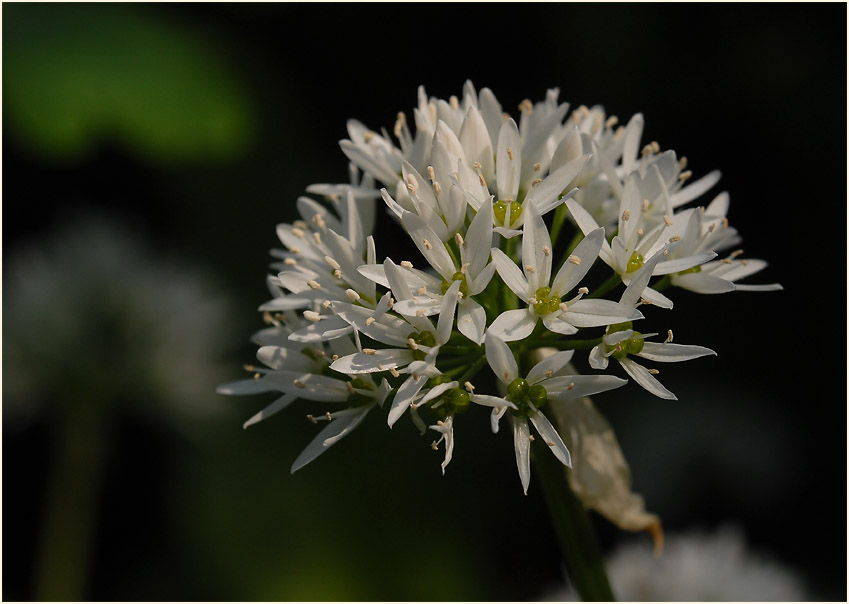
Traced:
[[[491, 409], [493, 432], [509, 412], [527, 492], [529, 423], [571, 465], [541, 409], [627, 382], [576, 374], [575, 350], [590, 350], [595, 370], [613, 358], [637, 384], [674, 399], [634, 357], [714, 353], [674, 344], [671, 332], [649, 341], [656, 334], [634, 328], [640, 307], [671, 309], [662, 293], [670, 286], [780, 289], [737, 283], [761, 270], [761, 260], [739, 250], [719, 259], [740, 240], [726, 194], [683, 209], [718, 173], [685, 184], [684, 158], [654, 142], [640, 147], [641, 115], [617, 127], [600, 107], [569, 113], [557, 99], [550, 90], [542, 102], [523, 101], [517, 122], [487, 88], [466, 83], [462, 100], [448, 101], [420, 88], [415, 134], [399, 113], [397, 144], [386, 131], [348, 123], [341, 147], [351, 182], [307, 188], [313, 197], [297, 202], [302, 220], [277, 227], [285, 249], [272, 251], [274, 297], [260, 307], [269, 327], [254, 337], [264, 367], [219, 388], [281, 394], [246, 426], [296, 399], [337, 407], [308, 416], [328, 423], [292, 471], [388, 403], [390, 427], [409, 410], [422, 433], [429, 426], [440, 434], [433, 446], [444, 442], [444, 472], [455, 418], [474, 404]], [[379, 198], [413, 243], [408, 258], [378, 261], [371, 233]], [[563, 237], [566, 230], [573, 236]], [[610, 277], [588, 287], [591, 270], [595, 276], [603, 265]], [[603, 298], [622, 285], [617, 299]], [[487, 367], [495, 379], [479, 375]]]

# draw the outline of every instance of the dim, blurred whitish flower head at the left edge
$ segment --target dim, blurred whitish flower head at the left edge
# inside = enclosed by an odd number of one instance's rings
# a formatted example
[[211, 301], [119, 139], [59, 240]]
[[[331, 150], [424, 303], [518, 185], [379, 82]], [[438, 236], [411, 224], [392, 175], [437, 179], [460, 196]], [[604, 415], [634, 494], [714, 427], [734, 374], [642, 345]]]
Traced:
[[224, 411], [211, 395], [233, 342], [223, 288], [105, 218], [72, 220], [4, 265], [4, 423], [54, 403], [186, 429]]

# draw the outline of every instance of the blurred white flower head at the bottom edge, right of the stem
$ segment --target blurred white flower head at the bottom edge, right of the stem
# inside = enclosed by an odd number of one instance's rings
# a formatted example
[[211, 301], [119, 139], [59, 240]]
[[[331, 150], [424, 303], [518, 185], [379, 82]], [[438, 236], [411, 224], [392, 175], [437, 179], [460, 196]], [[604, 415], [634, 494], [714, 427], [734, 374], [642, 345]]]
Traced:
[[[742, 529], [667, 534], [663, 555], [648, 542], [627, 543], [606, 561], [613, 593], [623, 602], [797, 602], [810, 596], [801, 578], [748, 547]], [[578, 601], [571, 588], [543, 601]]]

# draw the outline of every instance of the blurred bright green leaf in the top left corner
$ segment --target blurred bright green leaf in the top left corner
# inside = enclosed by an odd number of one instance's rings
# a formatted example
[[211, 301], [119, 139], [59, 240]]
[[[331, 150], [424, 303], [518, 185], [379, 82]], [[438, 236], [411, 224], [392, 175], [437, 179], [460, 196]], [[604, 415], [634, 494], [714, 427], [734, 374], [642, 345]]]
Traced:
[[150, 6], [7, 4], [4, 124], [31, 151], [79, 160], [103, 139], [158, 163], [228, 159], [254, 116], [211, 37]]

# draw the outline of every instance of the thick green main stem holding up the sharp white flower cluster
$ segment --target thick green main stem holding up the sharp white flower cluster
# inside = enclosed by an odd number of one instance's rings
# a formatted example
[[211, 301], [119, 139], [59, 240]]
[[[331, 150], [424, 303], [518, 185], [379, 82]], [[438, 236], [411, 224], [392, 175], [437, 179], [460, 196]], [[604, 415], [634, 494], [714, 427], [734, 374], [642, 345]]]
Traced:
[[569, 487], [567, 470], [543, 439], [532, 443], [531, 459], [542, 484], [566, 570], [584, 602], [611, 602], [613, 591], [604, 570], [601, 548], [587, 510]]

